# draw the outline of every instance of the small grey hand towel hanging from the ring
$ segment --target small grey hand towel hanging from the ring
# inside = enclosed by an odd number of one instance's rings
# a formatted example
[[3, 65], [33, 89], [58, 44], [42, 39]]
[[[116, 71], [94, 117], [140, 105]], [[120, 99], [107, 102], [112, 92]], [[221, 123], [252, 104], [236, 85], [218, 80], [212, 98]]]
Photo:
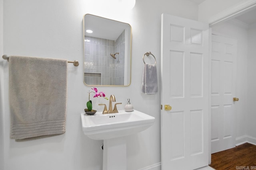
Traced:
[[156, 94], [158, 92], [156, 64], [146, 63], [144, 65], [141, 92], [145, 94]]

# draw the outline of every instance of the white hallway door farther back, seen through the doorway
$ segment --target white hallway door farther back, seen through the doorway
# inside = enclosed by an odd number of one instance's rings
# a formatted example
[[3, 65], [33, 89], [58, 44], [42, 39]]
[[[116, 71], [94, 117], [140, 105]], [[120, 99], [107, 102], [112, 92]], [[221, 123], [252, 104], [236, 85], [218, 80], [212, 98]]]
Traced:
[[234, 148], [237, 40], [212, 35], [212, 153]]

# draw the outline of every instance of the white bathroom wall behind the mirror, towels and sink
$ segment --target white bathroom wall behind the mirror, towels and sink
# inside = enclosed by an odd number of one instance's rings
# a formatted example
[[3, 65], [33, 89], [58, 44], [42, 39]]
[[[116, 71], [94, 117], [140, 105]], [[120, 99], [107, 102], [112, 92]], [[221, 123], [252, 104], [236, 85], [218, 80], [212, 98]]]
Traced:
[[[188, 0], [137, 0], [133, 10], [114, 8], [112, 1], [100, 0], [1, 0], [4, 2], [4, 54], [77, 59], [80, 66], [68, 66], [68, 106], [66, 133], [35, 141], [10, 140], [8, 103], [8, 62], [0, 59], [4, 89], [4, 170], [101, 170], [103, 141], [86, 137], [80, 113], [86, 108], [88, 90], [83, 84], [83, 25], [86, 13], [130, 23], [132, 26], [132, 81], [128, 87], [98, 87], [107, 96], [114, 94], [123, 109], [130, 98], [134, 109], [156, 117], [152, 127], [132, 135], [127, 141], [128, 170], [161, 162], [160, 93], [140, 93], [142, 55], [151, 51], [157, 60], [160, 83], [161, 14], [168, 13], [197, 20], [198, 6]], [[1, 16], [1, 14], [0, 14]], [[1, 23], [1, 20], [0, 20]], [[2, 31], [0, 30], [2, 34]], [[1, 44], [0, 44], [1, 47]], [[1, 52], [0, 52], [1, 53]], [[0, 74], [2, 75], [2, 74]], [[4, 80], [4, 81], [3, 81]], [[160, 91], [160, 90], [159, 90]], [[4, 93], [3, 93], [4, 92]], [[97, 103], [104, 99], [94, 100]], [[96, 107], [95, 109], [102, 109]], [[1, 145], [2, 146], [2, 145]], [[14, 163], [15, 162], [15, 163]], [[160, 169], [160, 166], [157, 167]]]

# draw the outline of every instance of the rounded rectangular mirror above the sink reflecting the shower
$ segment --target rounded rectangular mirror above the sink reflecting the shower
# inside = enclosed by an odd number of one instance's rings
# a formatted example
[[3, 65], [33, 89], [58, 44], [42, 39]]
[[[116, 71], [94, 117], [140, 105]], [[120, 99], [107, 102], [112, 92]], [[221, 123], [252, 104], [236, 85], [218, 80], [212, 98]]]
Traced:
[[84, 83], [129, 86], [132, 28], [91, 14], [84, 15]]

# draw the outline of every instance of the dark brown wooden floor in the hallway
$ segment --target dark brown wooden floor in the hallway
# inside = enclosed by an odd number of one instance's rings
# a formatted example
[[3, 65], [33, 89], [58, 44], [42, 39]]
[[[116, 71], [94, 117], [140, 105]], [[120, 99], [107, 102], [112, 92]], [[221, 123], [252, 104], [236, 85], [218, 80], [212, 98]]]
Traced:
[[210, 166], [216, 170], [256, 170], [256, 145], [245, 143], [214, 153]]

